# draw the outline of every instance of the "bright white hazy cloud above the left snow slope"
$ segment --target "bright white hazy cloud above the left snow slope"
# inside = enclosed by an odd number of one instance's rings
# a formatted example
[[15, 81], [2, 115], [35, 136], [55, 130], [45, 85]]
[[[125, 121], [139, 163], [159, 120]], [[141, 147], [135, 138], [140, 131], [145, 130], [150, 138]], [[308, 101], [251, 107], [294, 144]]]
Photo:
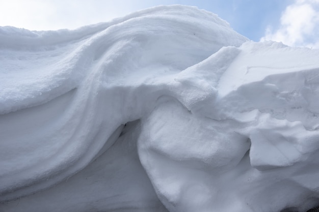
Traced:
[[0, 0], [0, 26], [31, 30], [76, 28], [109, 21], [137, 9], [138, 4], [128, 0]]

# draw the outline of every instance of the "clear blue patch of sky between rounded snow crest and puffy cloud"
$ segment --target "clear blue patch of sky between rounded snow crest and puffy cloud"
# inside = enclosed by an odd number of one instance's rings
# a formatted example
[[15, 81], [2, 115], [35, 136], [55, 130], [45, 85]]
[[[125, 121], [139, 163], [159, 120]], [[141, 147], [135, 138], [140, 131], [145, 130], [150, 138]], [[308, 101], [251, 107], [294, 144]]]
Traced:
[[236, 32], [251, 40], [259, 41], [268, 25], [276, 25], [280, 15], [289, 5], [287, 0], [213, 0], [175, 1], [194, 5], [218, 14], [228, 21]]

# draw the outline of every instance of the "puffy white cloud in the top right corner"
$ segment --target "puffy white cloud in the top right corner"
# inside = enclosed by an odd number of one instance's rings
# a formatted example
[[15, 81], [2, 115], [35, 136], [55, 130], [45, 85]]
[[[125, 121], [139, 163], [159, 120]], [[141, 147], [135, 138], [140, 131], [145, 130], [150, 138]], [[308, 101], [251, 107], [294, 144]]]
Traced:
[[269, 26], [260, 39], [289, 46], [319, 48], [319, 0], [296, 0], [287, 6], [275, 31]]

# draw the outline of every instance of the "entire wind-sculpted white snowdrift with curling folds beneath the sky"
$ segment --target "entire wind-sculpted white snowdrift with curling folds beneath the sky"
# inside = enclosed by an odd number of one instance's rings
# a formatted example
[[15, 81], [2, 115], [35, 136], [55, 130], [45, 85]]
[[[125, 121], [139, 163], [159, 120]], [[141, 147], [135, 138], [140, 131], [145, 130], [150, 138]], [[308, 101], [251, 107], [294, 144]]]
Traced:
[[316, 206], [318, 58], [186, 6], [0, 27], [0, 211]]

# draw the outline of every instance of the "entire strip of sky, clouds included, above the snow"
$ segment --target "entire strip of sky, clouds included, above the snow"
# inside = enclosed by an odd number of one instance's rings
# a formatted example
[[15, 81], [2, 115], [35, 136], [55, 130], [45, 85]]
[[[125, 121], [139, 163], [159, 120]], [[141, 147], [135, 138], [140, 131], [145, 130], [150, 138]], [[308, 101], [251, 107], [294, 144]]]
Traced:
[[253, 41], [319, 47], [319, 0], [0, 0], [0, 25], [31, 30], [76, 28], [171, 4], [216, 13]]

